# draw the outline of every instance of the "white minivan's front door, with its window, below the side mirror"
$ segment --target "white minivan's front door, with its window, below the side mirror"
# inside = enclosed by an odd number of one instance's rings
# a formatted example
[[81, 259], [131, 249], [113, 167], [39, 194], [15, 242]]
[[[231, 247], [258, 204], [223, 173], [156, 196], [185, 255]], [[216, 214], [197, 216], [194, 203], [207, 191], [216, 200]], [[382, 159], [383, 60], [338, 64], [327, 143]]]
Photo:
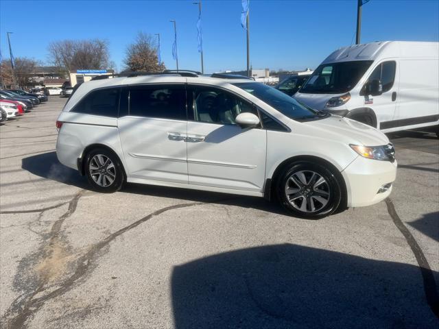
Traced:
[[241, 112], [256, 108], [213, 86], [189, 86], [187, 167], [189, 184], [261, 192], [265, 181], [266, 131], [242, 129]]

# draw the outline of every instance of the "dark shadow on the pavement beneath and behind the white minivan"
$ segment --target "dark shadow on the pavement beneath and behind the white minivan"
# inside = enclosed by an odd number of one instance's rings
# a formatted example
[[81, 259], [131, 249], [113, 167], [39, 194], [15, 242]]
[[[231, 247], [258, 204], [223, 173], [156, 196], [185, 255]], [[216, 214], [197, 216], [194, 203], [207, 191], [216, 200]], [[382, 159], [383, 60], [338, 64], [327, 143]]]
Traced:
[[[34, 175], [49, 180], [55, 180], [64, 184], [77, 186], [91, 190], [85, 176], [81, 176], [78, 171], [64, 166], [56, 158], [56, 152], [37, 154], [23, 158], [21, 167]], [[230, 206], [240, 206], [243, 208], [254, 208], [287, 215], [285, 210], [276, 202], [268, 202], [261, 197], [246, 197], [241, 195], [230, 195], [208, 191], [196, 191], [187, 188], [174, 188], [166, 186], [154, 186], [144, 184], [128, 183], [121, 190], [122, 193], [135, 193], [139, 195], [151, 195], [154, 197], [167, 197], [171, 199], [183, 199], [193, 202], [212, 202], [217, 204], [227, 204]], [[300, 219], [298, 219], [300, 220]]]

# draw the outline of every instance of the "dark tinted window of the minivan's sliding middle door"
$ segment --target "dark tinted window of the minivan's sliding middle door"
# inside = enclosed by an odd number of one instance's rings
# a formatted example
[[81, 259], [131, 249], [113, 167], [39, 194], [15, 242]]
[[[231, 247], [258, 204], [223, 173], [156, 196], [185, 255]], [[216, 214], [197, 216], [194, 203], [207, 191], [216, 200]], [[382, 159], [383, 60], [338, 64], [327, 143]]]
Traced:
[[186, 120], [185, 86], [134, 86], [129, 99], [129, 114], [134, 117]]

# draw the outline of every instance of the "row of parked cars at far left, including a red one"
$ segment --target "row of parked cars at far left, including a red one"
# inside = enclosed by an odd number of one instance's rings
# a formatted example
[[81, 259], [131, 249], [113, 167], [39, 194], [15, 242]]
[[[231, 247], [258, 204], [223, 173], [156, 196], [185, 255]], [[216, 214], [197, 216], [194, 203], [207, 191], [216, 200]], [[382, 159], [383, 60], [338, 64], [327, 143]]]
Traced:
[[21, 89], [0, 90], [0, 121], [23, 115], [43, 101], [47, 101], [47, 96]]

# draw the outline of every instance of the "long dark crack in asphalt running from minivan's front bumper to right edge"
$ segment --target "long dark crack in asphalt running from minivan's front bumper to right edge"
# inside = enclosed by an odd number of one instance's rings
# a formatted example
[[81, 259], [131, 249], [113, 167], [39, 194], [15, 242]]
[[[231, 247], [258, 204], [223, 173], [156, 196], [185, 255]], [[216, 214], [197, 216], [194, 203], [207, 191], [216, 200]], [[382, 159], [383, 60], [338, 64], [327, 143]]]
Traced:
[[434, 315], [439, 318], [439, 295], [436, 287], [436, 281], [434, 280], [433, 271], [431, 271], [427, 258], [425, 258], [423, 249], [420, 248], [412, 233], [410, 233], [403, 221], [401, 221], [401, 218], [399, 218], [395, 206], [389, 197], [385, 199], [385, 204], [387, 205], [387, 210], [390, 217], [392, 217], [393, 223], [405, 237], [410, 249], [412, 249], [416, 261], [418, 262], [420, 273], [423, 276], [424, 292], [425, 298], [427, 299], [427, 304], [430, 306]]

